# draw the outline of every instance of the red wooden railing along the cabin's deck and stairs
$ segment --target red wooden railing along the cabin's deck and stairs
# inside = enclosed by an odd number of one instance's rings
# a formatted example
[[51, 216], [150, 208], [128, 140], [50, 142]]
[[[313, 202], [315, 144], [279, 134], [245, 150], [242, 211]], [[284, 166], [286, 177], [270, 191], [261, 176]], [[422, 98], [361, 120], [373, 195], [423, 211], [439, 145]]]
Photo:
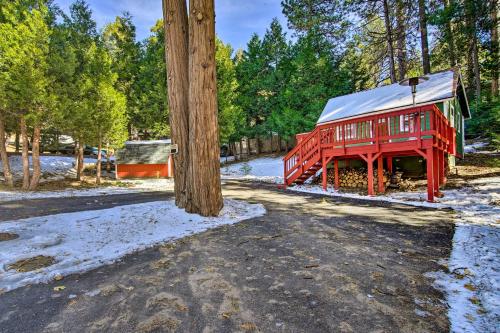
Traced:
[[284, 157], [284, 176], [290, 184], [321, 161], [324, 151], [336, 156], [378, 153], [381, 146], [398, 143], [405, 150], [430, 141], [454, 154], [454, 139], [455, 129], [434, 104], [321, 124], [297, 135], [297, 146]]

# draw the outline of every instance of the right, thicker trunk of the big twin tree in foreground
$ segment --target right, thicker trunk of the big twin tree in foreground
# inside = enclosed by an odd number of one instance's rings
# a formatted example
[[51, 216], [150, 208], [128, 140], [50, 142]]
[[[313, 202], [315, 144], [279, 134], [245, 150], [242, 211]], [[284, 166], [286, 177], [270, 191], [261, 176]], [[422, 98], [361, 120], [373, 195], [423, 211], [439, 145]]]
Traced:
[[187, 210], [217, 216], [220, 185], [214, 0], [189, 1], [189, 173], [193, 184]]

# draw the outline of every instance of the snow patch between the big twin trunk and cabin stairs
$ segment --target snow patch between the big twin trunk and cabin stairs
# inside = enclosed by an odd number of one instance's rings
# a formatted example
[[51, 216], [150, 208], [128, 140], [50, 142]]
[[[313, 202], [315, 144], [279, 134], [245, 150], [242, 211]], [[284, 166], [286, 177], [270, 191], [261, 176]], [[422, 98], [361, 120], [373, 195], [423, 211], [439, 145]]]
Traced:
[[260, 157], [246, 162], [223, 166], [221, 174], [224, 179], [282, 183], [283, 157]]

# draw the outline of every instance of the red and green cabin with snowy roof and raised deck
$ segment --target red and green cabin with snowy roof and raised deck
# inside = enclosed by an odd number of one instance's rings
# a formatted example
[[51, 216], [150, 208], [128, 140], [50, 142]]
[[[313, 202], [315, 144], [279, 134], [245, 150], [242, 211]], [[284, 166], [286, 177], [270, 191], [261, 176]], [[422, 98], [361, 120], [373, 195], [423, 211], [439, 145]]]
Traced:
[[[414, 89], [406, 81], [330, 99], [316, 128], [297, 134], [297, 146], [284, 157], [285, 186], [302, 184], [333, 163], [338, 189], [339, 161], [361, 159], [368, 169], [368, 195], [373, 195], [374, 162], [382, 193], [384, 159], [392, 173], [394, 157], [420, 156], [426, 161], [427, 199], [434, 201], [446, 182], [448, 156], [463, 155], [464, 119], [470, 111], [458, 68], [428, 74], [417, 83]], [[326, 190], [326, 172], [322, 180]]]

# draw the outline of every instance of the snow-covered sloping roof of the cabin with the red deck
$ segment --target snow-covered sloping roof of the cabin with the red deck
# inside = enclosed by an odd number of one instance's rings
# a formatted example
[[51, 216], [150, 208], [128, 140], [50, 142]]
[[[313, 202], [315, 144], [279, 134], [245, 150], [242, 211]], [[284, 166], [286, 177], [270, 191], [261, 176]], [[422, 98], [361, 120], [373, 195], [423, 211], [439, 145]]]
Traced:
[[[425, 105], [434, 101], [454, 98], [459, 82], [458, 75], [460, 74], [456, 69], [426, 75], [428, 80], [417, 86], [415, 103]], [[412, 105], [411, 88], [407, 85], [394, 83], [330, 99], [317, 123]]]

